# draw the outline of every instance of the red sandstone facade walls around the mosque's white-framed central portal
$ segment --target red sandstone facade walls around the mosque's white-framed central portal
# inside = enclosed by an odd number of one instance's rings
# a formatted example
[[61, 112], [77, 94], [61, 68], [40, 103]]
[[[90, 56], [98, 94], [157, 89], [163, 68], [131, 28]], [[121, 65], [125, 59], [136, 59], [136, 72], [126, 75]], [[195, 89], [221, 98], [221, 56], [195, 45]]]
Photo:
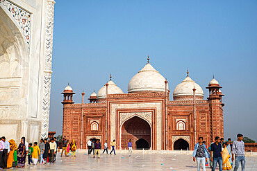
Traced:
[[[135, 94], [136, 95], [136, 94]], [[158, 96], [147, 96], [134, 94], [122, 94], [122, 95], [112, 95], [111, 100], [163, 100], [163, 93]], [[126, 97], [125, 97], [126, 96]], [[141, 97], [147, 96], [147, 97]], [[106, 104], [84, 104], [83, 105], [83, 148], [86, 148], [86, 138], [89, 136], [100, 136], [101, 143], [108, 139], [106, 136]], [[163, 103], [163, 117], [165, 117], [165, 104]], [[204, 141], [207, 145], [210, 145], [210, 140], [214, 139], [215, 136], [224, 136], [223, 131], [223, 107], [220, 102], [208, 100], [199, 100], [196, 105], [197, 113], [197, 140], [199, 136], [204, 137]], [[77, 147], [81, 145], [81, 104], [64, 105], [63, 108], [63, 136], [66, 136], [70, 141], [75, 140]], [[194, 147], [194, 118], [193, 118], [193, 104], [192, 101], [169, 101], [167, 105], [168, 113], [168, 133], [165, 137], [165, 118], [163, 118], [163, 139], [156, 140], [163, 142], [163, 147], [165, 146], [165, 138], [168, 141], [168, 150], [173, 150], [172, 136], [190, 136], [190, 150]], [[109, 114], [110, 115], [110, 114]], [[176, 119], [185, 120], [185, 130], [176, 129]], [[91, 122], [98, 120], [99, 129], [97, 131], [91, 130]], [[156, 125], [153, 125], [156, 127]], [[110, 125], [108, 125], [110, 128]], [[108, 130], [110, 136], [110, 130]], [[126, 134], [124, 129], [122, 129], [126, 141], [122, 141], [122, 148], [126, 147], [127, 140], [131, 138], [133, 142], [138, 139], [138, 137]], [[147, 139], [147, 137], [144, 137]], [[153, 138], [153, 137], [152, 137]], [[148, 139], [147, 139], [148, 141]], [[149, 142], [151, 142], [149, 140]], [[108, 145], [110, 140], [108, 140]], [[135, 144], [133, 144], [135, 149]], [[152, 146], [152, 145], [151, 145]]]

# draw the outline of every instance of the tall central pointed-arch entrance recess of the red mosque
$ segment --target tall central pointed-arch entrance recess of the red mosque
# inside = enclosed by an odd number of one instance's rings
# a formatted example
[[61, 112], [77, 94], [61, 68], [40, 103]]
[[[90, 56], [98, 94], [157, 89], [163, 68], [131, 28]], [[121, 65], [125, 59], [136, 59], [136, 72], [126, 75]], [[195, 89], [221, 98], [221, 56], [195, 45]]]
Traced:
[[150, 148], [151, 127], [149, 123], [138, 116], [126, 120], [121, 128], [121, 149], [128, 149], [129, 139], [131, 139], [133, 149]]

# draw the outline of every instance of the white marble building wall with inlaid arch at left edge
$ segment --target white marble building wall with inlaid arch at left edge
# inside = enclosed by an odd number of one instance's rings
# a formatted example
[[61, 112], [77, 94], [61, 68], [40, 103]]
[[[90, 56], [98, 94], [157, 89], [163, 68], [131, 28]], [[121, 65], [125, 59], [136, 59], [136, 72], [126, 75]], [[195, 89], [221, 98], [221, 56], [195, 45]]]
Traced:
[[[8, 139], [26, 136], [30, 142], [38, 141], [42, 127], [47, 135], [54, 3], [0, 2], [0, 135]], [[50, 73], [47, 87], [45, 71]]]

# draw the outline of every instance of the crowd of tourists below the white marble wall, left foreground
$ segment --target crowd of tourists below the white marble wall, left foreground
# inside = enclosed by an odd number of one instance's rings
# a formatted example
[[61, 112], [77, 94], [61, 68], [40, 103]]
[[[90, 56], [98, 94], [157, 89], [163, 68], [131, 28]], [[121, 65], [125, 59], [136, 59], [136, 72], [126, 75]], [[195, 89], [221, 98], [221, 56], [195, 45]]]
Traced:
[[[73, 141], [74, 142], [74, 141]], [[40, 139], [40, 143], [27, 143], [22, 137], [19, 145], [11, 139], [6, 141], [2, 136], [0, 141], [0, 168], [24, 168], [27, 157], [28, 165], [54, 163], [57, 152], [60, 152], [56, 137], [52, 139]]]

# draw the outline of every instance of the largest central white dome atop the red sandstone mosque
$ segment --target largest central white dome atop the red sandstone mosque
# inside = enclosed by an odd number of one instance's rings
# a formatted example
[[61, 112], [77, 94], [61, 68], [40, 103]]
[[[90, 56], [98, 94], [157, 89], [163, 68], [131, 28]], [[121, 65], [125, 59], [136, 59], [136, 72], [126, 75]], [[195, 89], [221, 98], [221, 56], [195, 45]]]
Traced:
[[150, 63], [128, 82], [128, 93], [138, 91], [165, 91], [165, 78]]

